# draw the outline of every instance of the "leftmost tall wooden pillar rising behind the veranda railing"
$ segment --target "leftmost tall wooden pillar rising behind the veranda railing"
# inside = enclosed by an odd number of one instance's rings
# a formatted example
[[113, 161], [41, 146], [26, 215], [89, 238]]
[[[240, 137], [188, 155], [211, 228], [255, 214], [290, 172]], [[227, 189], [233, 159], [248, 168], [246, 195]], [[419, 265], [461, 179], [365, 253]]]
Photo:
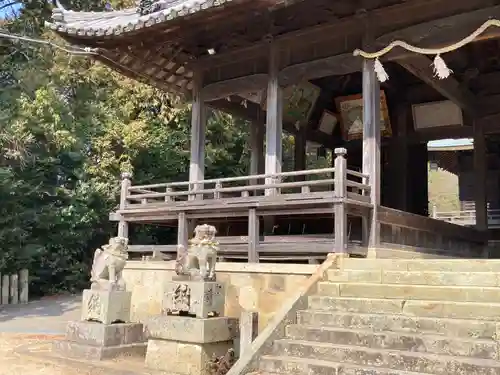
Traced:
[[[203, 77], [200, 70], [193, 73], [193, 103], [191, 109], [191, 161], [189, 163], [189, 181], [201, 181], [205, 176], [205, 125], [206, 107], [201, 95]], [[203, 186], [192, 185], [200, 190]]]

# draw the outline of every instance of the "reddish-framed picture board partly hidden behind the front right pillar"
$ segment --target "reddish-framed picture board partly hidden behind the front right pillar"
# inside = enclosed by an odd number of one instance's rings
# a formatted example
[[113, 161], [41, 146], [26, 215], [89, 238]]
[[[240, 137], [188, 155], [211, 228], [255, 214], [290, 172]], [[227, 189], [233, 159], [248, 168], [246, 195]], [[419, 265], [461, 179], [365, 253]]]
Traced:
[[[361, 94], [341, 96], [335, 99], [340, 112], [342, 134], [345, 140], [363, 138], [363, 96]], [[390, 137], [392, 129], [385, 92], [380, 91], [380, 132], [383, 137]]]

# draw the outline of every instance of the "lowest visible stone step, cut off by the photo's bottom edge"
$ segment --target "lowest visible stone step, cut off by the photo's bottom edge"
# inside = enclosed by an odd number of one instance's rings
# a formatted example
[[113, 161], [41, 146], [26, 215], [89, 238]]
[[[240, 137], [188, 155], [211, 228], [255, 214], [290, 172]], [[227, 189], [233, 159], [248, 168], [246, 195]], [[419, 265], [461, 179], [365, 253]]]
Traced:
[[263, 356], [259, 362], [259, 375], [424, 375], [416, 372], [390, 370], [347, 363], [322, 361], [286, 356]]

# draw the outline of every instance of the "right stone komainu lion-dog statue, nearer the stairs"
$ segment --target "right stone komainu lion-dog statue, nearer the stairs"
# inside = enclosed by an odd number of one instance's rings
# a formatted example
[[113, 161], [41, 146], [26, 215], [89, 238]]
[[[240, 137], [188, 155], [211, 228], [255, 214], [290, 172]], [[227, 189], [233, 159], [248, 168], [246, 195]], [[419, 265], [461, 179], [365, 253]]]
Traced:
[[215, 240], [217, 230], [212, 225], [198, 225], [194, 237], [186, 250], [177, 246], [175, 271], [178, 275], [189, 275], [191, 280], [215, 281], [215, 263], [219, 243]]

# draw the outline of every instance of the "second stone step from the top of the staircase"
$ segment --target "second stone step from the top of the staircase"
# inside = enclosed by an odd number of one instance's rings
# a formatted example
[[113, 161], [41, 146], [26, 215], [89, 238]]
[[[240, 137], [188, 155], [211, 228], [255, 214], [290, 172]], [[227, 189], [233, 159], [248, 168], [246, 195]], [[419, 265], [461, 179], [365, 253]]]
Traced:
[[434, 286], [500, 286], [500, 272], [328, 270], [328, 281]]

